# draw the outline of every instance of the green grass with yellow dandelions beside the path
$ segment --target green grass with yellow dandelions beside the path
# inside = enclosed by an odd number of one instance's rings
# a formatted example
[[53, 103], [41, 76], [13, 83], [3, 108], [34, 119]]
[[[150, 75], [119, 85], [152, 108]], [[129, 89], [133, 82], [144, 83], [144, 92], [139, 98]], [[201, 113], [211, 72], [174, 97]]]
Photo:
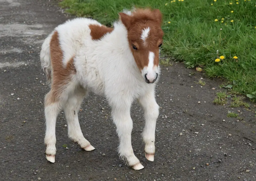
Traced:
[[182, 60], [187, 68], [200, 66], [209, 77], [224, 78], [232, 93], [256, 102], [255, 1], [63, 0], [60, 5], [73, 15], [90, 16], [108, 26], [123, 8], [159, 8], [165, 56]]

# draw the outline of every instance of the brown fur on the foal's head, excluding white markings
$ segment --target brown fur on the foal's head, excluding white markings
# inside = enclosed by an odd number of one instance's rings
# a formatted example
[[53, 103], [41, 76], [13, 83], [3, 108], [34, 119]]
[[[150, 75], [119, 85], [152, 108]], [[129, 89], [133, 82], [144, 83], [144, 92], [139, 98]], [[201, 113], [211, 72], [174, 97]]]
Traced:
[[[136, 9], [132, 15], [119, 13], [120, 20], [128, 31], [130, 49], [138, 68], [142, 71], [148, 65], [149, 52], [155, 54], [154, 65], [159, 64], [159, 45], [163, 42], [162, 14], [158, 9]], [[144, 42], [141, 39], [142, 31], [149, 27], [149, 36]], [[132, 46], [135, 45], [137, 50]]]

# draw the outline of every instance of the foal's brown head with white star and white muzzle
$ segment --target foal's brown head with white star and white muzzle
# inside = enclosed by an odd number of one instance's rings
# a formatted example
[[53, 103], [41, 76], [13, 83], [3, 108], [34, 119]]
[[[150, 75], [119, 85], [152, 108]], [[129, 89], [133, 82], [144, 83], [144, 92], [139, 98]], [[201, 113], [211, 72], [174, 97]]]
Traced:
[[119, 13], [128, 31], [130, 49], [146, 83], [158, 75], [159, 47], [163, 43], [162, 14], [158, 9], [137, 9], [131, 14]]

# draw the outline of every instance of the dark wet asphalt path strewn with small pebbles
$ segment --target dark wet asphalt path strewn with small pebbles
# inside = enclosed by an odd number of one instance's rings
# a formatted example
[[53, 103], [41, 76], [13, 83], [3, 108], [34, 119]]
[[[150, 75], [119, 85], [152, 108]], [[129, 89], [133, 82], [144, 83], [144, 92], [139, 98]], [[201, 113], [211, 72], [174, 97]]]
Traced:
[[[221, 82], [175, 62], [162, 67], [156, 89], [161, 110], [154, 162], [144, 156], [143, 110], [137, 103], [131, 116], [132, 146], [145, 167], [139, 171], [117, 155], [118, 137], [105, 99], [89, 94], [79, 120], [96, 150], [82, 151], [68, 139], [61, 112], [56, 162], [49, 163], [43, 106], [49, 86], [39, 52], [47, 34], [68, 18], [56, 1], [0, 0], [0, 180], [256, 180], [255, 105], [251, 111], [214, 105]], [[202, 87], [195, 83], [201, 77]], [[243, 120], [227, 118], [228, 111], [240, 111]]]

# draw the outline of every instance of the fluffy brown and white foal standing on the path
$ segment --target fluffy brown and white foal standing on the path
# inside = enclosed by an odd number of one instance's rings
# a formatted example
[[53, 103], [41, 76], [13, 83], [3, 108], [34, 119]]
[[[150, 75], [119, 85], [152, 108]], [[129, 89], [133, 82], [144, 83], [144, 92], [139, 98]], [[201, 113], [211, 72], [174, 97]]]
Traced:
[[78, 121], [81, 102], [90, 91], [107, 99], [120, 141], [119, 155], [135, 170], [144, 168], [131, 144], [130, 108], [138, 100], [144, 109], [145, 156], [154, 161], [161, 23], [158, 9], [134, 9], [119, 13], [114, 28], [93, 19], [75, 18], [57, 26], [45, 39], [40, 60], [47, 83], [51, 82], [44, 102], [48, 161], [55, 162], [55, 125], [62, 108], [69, 138], [83, 150], [95, 149], [84, 138]]

